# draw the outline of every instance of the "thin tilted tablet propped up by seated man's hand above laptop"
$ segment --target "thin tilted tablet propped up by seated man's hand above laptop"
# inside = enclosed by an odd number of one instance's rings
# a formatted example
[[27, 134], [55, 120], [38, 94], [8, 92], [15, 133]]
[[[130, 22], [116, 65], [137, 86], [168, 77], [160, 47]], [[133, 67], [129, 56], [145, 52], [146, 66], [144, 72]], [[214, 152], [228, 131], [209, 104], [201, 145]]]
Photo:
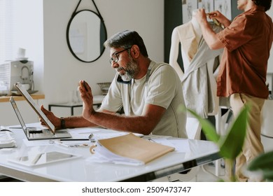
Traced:
[[25, 90], [25, 88], [22, 87], [22, 85], [20, 83], [16, 83], [15, 87], [19, 90], [19, 92], [21, 92], [22, 96], [25, 97], [25, 99], [27, 100], [27, 102], [29, 103], [29, 105], [32, 107], [32, 109], [34, 109], [34, 111], [43, 120], [43, 122], [45, 122], [45, 125], [47, 125], [47, 127], [49, 128], [49, 130], [53, 134], [55, 134], [55, 126], [50, 122], [50, 120], [48, 119], [48, 117], [45, 116], [45, 114], [43, 113], [43, 111], [41, 111], [41, 109], [37, 106], [36, 102], [34, 102], [34, 99], [32, 99], [32, 97], [27, 92], [27, 90]]

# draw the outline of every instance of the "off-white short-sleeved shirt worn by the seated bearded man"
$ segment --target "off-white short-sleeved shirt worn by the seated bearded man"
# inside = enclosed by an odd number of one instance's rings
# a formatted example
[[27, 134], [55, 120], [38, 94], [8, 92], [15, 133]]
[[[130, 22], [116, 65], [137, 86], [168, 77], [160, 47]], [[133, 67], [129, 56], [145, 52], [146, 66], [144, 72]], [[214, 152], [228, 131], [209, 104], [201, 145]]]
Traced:
[[101, 108], [116, 112], [123, 107], [125, 116], [141, 116], [146, 104], [162, 106], [166, 112], [152, 133], [187, 138], [186, 113], [179, 110], [184, 104], [179, 76], [166, 63], [151, 61], [149, 69], [148, 78], [132, 79], [129, 84], [119, 83], [117, 73]]

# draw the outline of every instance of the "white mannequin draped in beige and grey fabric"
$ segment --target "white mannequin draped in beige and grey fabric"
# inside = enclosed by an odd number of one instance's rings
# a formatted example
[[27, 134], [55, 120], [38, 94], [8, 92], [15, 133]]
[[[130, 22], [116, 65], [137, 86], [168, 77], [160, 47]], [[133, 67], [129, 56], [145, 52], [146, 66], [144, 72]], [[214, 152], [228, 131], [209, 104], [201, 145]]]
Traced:
[[[217, 71], [214, 71], [214, 66], [219, 62], [216, 59], [221, 57], [223, 50], [209, 49], [204, 38], [202, 38], [202, 31], [195, 14], [196, 10], [193, 10], [192, 20], [174, 28], [169, 64], [174, 67], [181, 79], [186, 107], [196, 111], [202, 118], [207, 118], [218, 113], [219, 98], [216, 96]], [[210, 25], [216, 33], [222, 30], [221, 27], [213, 23]], [[181, 43], [184, 72], [178, 63], [179, 43]], [[197, 53], [198, 55], [196, 55]], [[200, 139], [201, 125], [193, 116], [188, 116], [186, 130], [190, 139]]]

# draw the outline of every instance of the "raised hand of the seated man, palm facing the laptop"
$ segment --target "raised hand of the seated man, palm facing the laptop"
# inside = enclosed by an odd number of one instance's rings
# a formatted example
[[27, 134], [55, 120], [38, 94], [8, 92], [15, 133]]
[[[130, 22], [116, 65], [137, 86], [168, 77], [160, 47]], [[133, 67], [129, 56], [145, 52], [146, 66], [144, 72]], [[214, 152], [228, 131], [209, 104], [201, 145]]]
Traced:
[[83, 118], [89, 120], [94, 113], [91, 87], [84, 80], [80, 80], [78, 90], [80, 91], [81, 99], [83, 99]]

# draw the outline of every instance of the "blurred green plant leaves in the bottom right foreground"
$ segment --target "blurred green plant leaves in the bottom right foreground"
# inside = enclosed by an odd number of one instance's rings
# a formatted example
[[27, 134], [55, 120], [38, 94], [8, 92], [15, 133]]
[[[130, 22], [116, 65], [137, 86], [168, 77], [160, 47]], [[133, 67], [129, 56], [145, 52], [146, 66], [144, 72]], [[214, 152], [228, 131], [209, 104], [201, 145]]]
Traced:
[[[220, 149], [220, 155], [225, 159], [225, 162], [235, 163], [235, 160], [244, 145], [244, 138], [246, 137], [246, 126], [248, 122], [248, 112], [250, 106], [245, 106], [241, 110], [239, 116], [233, 121], [232, 125], [228, 127], [228, 134], [221, 136], [217, 134], [214, 125], [209, 120], [201, 118], [200, 116], [185, 106], [179, 108], [181, 111], [188, 111], [195, 118], [200, 121], [202, 130], [207, 139], [214, 141]], [[235, 171], [235, 164], [232, 165], [232, 171]], [[261, 181], [273, 181], [273, 151], [262, 153], [246, 167], [248, 174], [255, 175]], [[230, 181], [237, 181], [235, 172], [231, 172]]]

